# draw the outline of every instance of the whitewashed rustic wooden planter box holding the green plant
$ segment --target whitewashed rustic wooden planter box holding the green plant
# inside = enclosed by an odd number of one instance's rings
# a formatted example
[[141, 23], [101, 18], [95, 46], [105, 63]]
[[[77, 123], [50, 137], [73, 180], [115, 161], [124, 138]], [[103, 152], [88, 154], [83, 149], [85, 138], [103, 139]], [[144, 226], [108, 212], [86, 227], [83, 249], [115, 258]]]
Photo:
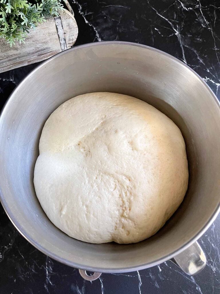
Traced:
[[[68, 7], [68, 5], [67, 5]], [[69, 6], [60, 16], [50, 17], [31, 30], [25, 44], [10, 47], [0, 39], [0, 73], [45, 60], [73, 46], [78, 36], [74, 13]]]

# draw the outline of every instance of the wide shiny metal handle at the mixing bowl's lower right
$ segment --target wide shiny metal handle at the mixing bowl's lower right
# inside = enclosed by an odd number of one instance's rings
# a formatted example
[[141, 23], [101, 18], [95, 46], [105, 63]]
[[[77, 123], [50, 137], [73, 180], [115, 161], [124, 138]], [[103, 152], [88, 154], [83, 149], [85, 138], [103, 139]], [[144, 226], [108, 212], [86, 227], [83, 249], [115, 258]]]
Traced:
[[170, 259], [170, 261], [187, 275], [196, 275], [205, 267], [206, 256], [199, 243], [195, 242], [186, 250]]

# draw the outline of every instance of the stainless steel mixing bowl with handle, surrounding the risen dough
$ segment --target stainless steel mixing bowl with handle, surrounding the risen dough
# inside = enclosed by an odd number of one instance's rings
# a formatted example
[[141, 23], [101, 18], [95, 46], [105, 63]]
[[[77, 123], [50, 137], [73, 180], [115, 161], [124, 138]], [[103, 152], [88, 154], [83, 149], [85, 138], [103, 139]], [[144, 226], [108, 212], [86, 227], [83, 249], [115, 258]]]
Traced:
[[[35, 195], [33, 169], [45, 121], [67, 99], [97, 91], [147, 101], [169, 116], [185, 138], [185, 199], [158, 233], [140, 243], [89, 244], [70, 238], [50, 222]], [[205, 256], [194, 242], [219, 212], [220, 107], [206, 83], [174, 57], [140, 44], [101, 42], [50, 58], [16, 87], [4, 106], [0, 156], [2, 205], [19, 232], [50, 257], [105, 273], [140, 270], [173, 257], [188, 274], [203, 268]]]

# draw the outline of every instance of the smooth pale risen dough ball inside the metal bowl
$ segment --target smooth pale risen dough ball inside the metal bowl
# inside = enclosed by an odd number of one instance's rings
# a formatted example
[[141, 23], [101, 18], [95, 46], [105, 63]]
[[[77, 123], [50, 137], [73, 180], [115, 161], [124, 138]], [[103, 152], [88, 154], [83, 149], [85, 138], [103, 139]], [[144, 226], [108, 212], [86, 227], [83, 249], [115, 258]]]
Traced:
[[39, 151], [41, 206], [60, 230], [85, 242], [150, 237], [187, 190], [179, 128], [130, 96], [101, 92], [66, 101], [46, 121]]

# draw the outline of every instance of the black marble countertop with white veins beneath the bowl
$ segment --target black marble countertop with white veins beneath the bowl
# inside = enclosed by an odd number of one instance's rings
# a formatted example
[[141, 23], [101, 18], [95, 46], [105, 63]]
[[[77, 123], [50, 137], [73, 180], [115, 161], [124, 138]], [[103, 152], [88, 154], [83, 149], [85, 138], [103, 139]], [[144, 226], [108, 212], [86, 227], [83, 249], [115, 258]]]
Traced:
[[[71, 1], [71, 0], [70, 0]], [[219, 0], [72, 0], [79, 26], [75, 45], [131, 41], [163, 50], [194, 69], [220, 98]], [[0, 74], [0, 105], [36, 64]], [[219, 134], [216, 134], [219, 135]], [[194, 277], [174, 264], [85, 281], [77, 269], [28, 243], [0, 207], [1, 294], [220, 293], [220, 217], [199, 239], [206, 268]]]

